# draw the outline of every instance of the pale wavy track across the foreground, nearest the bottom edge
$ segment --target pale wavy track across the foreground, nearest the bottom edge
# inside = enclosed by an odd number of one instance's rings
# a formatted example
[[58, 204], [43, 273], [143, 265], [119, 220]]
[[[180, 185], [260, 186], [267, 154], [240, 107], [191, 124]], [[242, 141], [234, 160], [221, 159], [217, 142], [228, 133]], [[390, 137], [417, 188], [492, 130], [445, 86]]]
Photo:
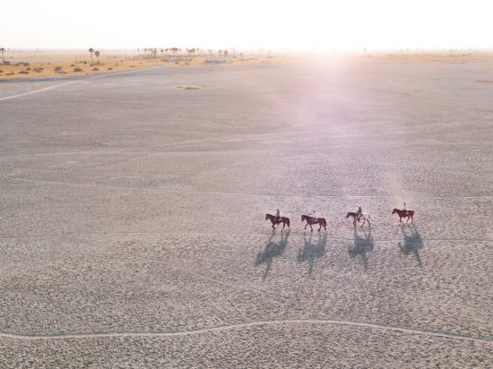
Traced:
[[419, 334], [427, 336], [435, 336], [445, 339], [461, 339], [465, 341], [480, 342], [480, 343], [493, 343], [491, 338], [477, 338], [468, 337], [456, 333], [442, 332], [438, 330], [416, 330], [411, 328], [402, 328], [394, 325], [387, 325], [383, 323], [371, 323], [371, 322], [351, 322], [351, 321], [336, 321], [336, 320], [279, 320], [279, 321], [260, 321], [260, 322], [245, 322], [238, 324], [227, 324], [215, 327], [207, 327], [198, 330], [154, 330], [154, 331], [119, 331], [119, 332], [99, 332], [99, 333], [56, 333], [56, 334], [24, 334], [24, 333], [8, 333], [0, 332], [0, 337], [6, 339], [99, 339], [99, 338], [122, 338], [122, 337], [176, 337], [176, 336], [188, 336], [193, 334], [221, 331], [221, 330], [236, 330], [249, 327], [263, 326], [263, 325], [282, 325], [282, 324], [317, 324], [317, 325], [346, 325], [350, 327], [359, 328], [372, 328], [378, 330], [394, 330], [403, 333]]

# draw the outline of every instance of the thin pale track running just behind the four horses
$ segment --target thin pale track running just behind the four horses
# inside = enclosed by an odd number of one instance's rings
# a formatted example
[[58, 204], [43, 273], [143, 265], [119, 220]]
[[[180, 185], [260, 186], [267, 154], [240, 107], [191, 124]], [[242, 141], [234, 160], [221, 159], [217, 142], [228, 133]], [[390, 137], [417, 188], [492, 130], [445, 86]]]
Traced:
[[[169, 190], [166, 188], [149, 188], [149, 187], [131, 187], [121, 185], [96, 185], [96, 184], [79, 184], [73, 182], [58, 182], [58, 181], [44, 181], [39, 179], [27, 179], [19, 177], [10, 177], [15, 181], [30, 182], [41, 185], [73, 185], [78, 187], [96, 187], [96, 188], [108, 188], [116, 190], [131, 190], [131, 191], [150, 191], [150, 192], [164, 192], [164, 193], [194, 193], [194, 194], [212, 194], [223, 196], [279, 196], [279, 197], [292, 197], [292, 198], [376, 198], [376, 199], [388, 199], [388, 198], [401, 198], [402, 195], [346, 195], [346, 194], [307, 194], [296, 195], [290, 193], [226, 193], [219, 191], [198, 191], [198, 190]], [[415, 199], [488, 199], [493, 196], [415, 196]]]

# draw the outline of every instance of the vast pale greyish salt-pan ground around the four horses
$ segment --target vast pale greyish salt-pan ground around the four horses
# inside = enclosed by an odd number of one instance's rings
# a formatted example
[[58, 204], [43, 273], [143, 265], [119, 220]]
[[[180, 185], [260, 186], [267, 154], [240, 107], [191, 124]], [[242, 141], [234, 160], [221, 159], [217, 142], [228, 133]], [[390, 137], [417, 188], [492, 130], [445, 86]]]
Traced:
[[0, 83], [0, 366], [491, 367], [490, 68]]

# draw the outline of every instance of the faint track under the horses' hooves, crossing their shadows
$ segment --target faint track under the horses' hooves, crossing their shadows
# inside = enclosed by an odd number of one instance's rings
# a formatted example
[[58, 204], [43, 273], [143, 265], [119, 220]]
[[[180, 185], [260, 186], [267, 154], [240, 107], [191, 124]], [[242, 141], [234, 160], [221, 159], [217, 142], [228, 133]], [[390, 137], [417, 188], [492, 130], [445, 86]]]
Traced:
[[[364, 230], [368, 231], [368, 228], [364, 228]], [[292, 231], [292, 230], [291, 230]], [[309, 231], [305, 231], [303, 229], [298, 229], [297, 234], [293, 234], [290, 236], [302, 236], [303, 233], [308, 233]], [[286, 231], [287, 233], [288, 231]], [[292, 231], [296, 232], [296, 231]], [[311, 233], [311, 232], [309, 232]], [[82, 232], [82, 233], [65, 233], [65, 234], [47, 234], [47, 235], [30, 235], [30, 236], [0, 236], [0, 240], [15, 240], [22, 238], [55, 238], [55, 237], [70, 237], [70, 236], [117, 236], [117, 235], [162, 235], [162, 236], [176, 236], [176, 235], [186, 235], [186, 236], [218, 236], [218, 235], [227, 235], [227, 236], [272, 236], [272, 233], [238, 233], [238, 232], [192, 232], [192, 231], [183, 231], [183, 232], [166, 232], [166, 231], [143, 231], [143, 232]], [[276, 232], [276, 235], [281, 235], [281, 230], [279, 233]], [[314, 233], [314, 235], [316, 235]], [[354, 241], [354, 237], [326, 237], [328, 240], [333, 241]], [[454, 241], [468, 241], [468, 242], [488, 242], [491, 241], [489, 238], [421, 238], [426, 242], [433, 241], [445, 241], [445, 242], [454, 242]], [[382, 239], [373, 239], [373, 242], [399, 242], [403, 241], [402, 238], [382, 238]]]

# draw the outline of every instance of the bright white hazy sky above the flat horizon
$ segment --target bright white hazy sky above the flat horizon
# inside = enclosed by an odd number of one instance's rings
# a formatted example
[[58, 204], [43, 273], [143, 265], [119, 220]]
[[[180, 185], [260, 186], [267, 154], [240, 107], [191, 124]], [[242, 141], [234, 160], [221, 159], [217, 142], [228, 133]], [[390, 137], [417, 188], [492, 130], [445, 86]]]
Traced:
[[0, 47], [493, 48], [493, 0], [23, 0]]

